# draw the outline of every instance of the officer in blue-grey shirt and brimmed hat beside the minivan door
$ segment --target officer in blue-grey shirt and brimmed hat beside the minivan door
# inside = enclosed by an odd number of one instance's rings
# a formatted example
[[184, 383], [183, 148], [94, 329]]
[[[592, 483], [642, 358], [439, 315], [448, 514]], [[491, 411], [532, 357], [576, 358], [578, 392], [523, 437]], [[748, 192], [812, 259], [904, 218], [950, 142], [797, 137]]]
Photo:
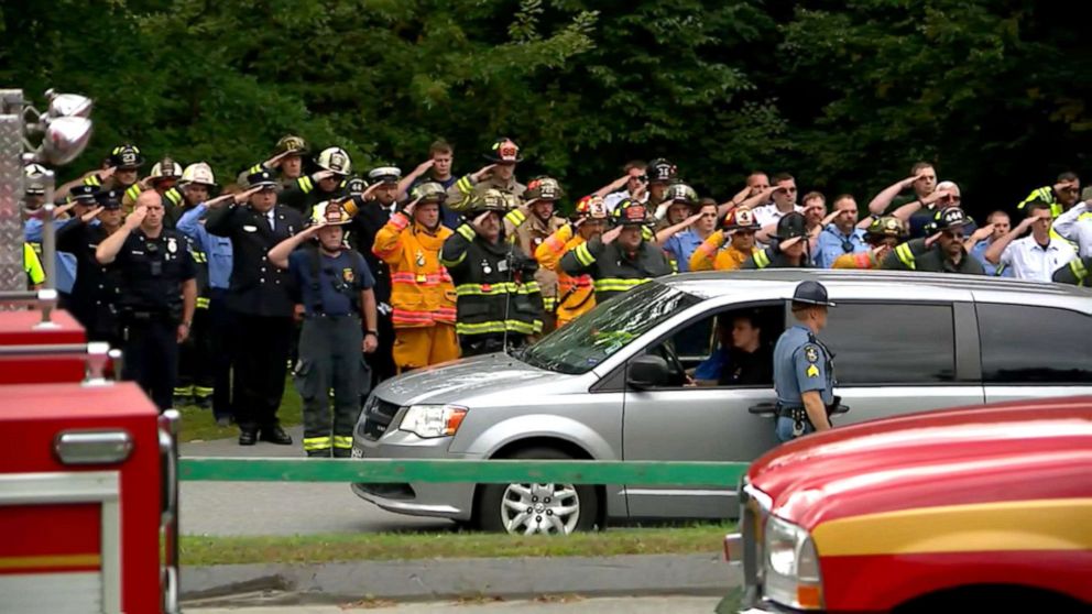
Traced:
[[782, 333], [774, 348], [774, 388], [777, 391], [777, 438], [782, 441], [830, 428], [828, 407], [834, 407], [833, 354], [816, 337], [827, 326], [827, 288], [800, 282], [793, 293], [798, 324]]

